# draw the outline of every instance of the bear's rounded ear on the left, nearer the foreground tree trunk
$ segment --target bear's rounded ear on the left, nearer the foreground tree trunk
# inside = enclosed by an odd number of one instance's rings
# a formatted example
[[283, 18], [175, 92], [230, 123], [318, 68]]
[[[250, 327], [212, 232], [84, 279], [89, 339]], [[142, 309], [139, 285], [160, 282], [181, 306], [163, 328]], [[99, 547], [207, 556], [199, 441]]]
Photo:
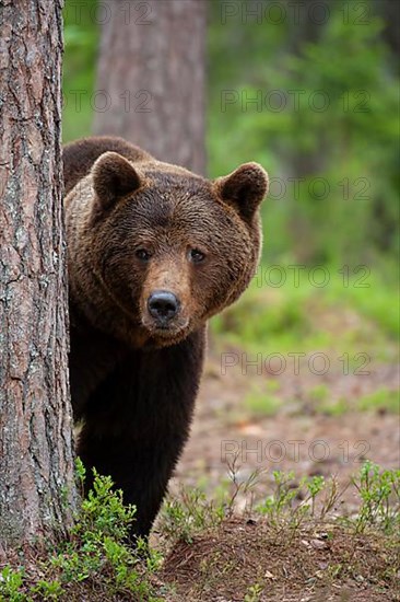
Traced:
[[141, 186], [136, 169], [117, 152], [105, 152], [92, 167], [93, 187], [104, 208]]

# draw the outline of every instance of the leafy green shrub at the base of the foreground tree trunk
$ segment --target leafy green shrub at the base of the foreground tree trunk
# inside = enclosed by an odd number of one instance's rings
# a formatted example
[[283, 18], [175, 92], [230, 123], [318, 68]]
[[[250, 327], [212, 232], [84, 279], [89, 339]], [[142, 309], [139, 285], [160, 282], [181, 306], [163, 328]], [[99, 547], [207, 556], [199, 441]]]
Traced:
[[[77, 474], [83, 483], [85, 471], [80, 460]], [[133, 548], [128, 545], [134, 513], [134, 507], [123, 506], [121, 491], [113, 490], [110, 478], [94, 471], [93, 489], [82, 501], [71, 540], [42, 562], [45, 578], [31, 587], [32, 579], [25, 581], [23, 571], [5, 567], [0, 594], [12, 602], [61, 600], [77, 588], [96, 582], [110, 599], [129, 593], [132, 600], [156, 602], [149, 578], [158, 568], [161, 555], [142, 540]]]

